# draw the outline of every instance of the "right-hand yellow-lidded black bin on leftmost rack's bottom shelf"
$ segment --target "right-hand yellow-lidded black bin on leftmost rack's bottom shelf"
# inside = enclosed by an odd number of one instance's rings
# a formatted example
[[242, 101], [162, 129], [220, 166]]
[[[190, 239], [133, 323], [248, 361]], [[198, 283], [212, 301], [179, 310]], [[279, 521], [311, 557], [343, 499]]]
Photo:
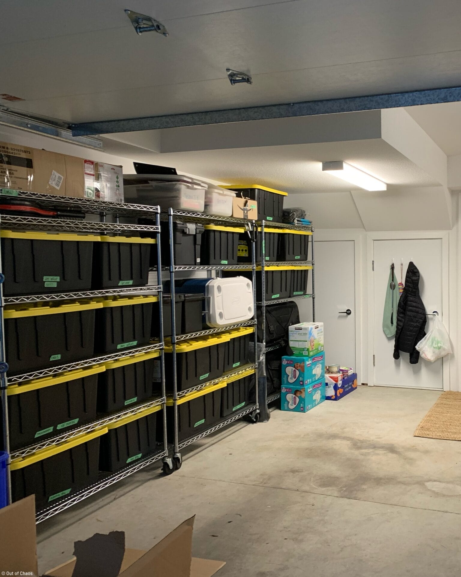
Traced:
[[[101, 439], [99, 468], [115, 473], [156, 450], [157, 413], [161, 406], [150, 407], [107, 425]], [[161, 419], [159, 419], [161, 421]]]

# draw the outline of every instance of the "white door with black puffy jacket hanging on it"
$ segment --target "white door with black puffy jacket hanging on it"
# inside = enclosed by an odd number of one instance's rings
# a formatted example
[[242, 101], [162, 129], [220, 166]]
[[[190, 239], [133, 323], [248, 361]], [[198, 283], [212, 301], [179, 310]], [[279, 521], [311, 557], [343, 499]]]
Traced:
[[[374, 284], [374, 384], [383, 387], [410, 387], [418, 389], [443, 389], [442, 359], [434, 363], [420, 358], [417, 365], [410, 365], [409, 354], [400, 353], [395, 361], [394, 338], [383, 332], [384, 299], [389, 269], [394, 258], [396, 284], [400, 281], [400, 259], [403, 259], [403, 283], [408, 263], [412, 260], [420, 271], [420, 294], [426, 313], [442, 311], [442, 240], [440, 238], [373, 241]], [[396, 289], [398, 290], [398, 288]], [[426, 332], [432, 324], [428, 316]]]

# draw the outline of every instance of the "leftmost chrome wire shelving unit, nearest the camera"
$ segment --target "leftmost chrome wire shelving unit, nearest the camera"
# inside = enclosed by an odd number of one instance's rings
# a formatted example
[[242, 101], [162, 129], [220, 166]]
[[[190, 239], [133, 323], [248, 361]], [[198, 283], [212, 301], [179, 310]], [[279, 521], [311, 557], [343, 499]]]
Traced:
[[[161, 406], [161, 414], [163, 418], [163, 441], [157, 444], [157, 448], [150, 455], [144, 456], [137, 460], [118, 473], [99, 473], [99, 479], [96, 484], [89, 486], [83, 490], [75, 492], [65, 499], [57, 501], [55, 504], [50, 504], [45, 508], [39, 509], [36, 515], [36, 522], [50, 518], [61, 511], [71, 507], [74, 504], [80, 503], [87, 497], [108, 488], [116, 482], [136, 473], [149, 465], [163, 460], [163, 469], [173, 470], [173, 462], [169, 456], [169, 448], [167, 444], [167, 421], [166, 421], [166, 392], [165, 392], [165, 376], [164, 376], [164, 327], [163, 327], [163, 299], [162, 296], [162, 279], [161, 279], [161, 244], [160, 244], [160, 209], [155, 206], [136, 205], [136, 204], [120, 204], [100, 201], [90, 198], [72, 198], [61, 197], [53, 194], [39, 194], [27, 192], [24, 190], [10, 190], [0, 188], [0, 195], [14, 197], [18, 200], [32, 201], [36, 207], [46, 209], [47, 211], [59, 211], [59, 209], [66, 209], [66, 214], [75, 209], [71, 218], [54, 218], [52, 215], [45, 216], [13, 216], [2, 215], [0, 218], [0, 228], [14, 229], [22, 231], [50, 231], [50, 232], [74, 232], [74, 233], [97, 233], [107, 234], [130, 234], [144, 231], [156, 237], [157, 261], [160, 263], [157, 272], [157, 283], [150, 284], [143, 287], [116, 287], [107, 288], [104, 290], [89, 290], [76, 291], [71, 293], [48, 293], [48, 294], [25, 294], [14, 296], [3, 296], [3, 275], [0, 272], [0, 389], [1, 389], [1, 423], [3, 429], [3, 447], [2, 449], [10, 454], [10, 461], [12, 459], [24, 458], [36, 451], [41, 451], [46, 448], [53, 447], [64, 441], [73, 439], [84, 433], [89, 433], [99, 429], [105, 425], [121, 421], [126, 417], [136, 415], [150, 409], [151, 407]], [[89, 220], [87, 215], [93, 220]], [[107, 215], [114, 215], [115, 222], [106, 222]], [[153, 224], [135, 224], [135, 223], [120, 223], [119, 217], [128, 218], [148, 218], [154, 221]], [[1, 262], [0, 262], [1, 271]], [[146, 346], [136, 347], [134, 349], [124, 349], [116, 353], [108, 353], [96, 357], [82, 359], [81, 361], [71, 362], [64, 365], [53, 366], [46, 369], [34, 370], [21, 374], [7, 374], [7, 353], [5, 349], [5, 331], [3, 323], [3, 310], [5, 305], [25, 304], [34, 302], [46, 301], [71, 301], [82, 298], [97, 298], [113, 295], [141, 295], [141, 294], [158, 294], [158, 323], [160, 326], [160, 336], [157, 340], [151, 340]], [[42, 377], [56, 376], [59, 373], [65, 373], [73, 369], [83, 369], [90, 366], [97, 366], [104, 362], [115, 361], [132, 357], [139, 353], [150, 353], [152, 351], [160, 352], [160, 393], [142, 403], [133, 404], [126, 409], [116, 411], [115, 413], [99, 414], [97, 418], [91, 422], [78, 426], [71, 430], [67, 430], [50, 439], [37, 441], [27, 447], [20, 447], [13, 449], [10, 452], [9, 447], [9, 430], [8, 430], [8, 403], [7, 403], [7, 387], [9, 385], [24, 385], [28, 381], [40, 379]], [[9, 467], [8, 467], [9, 472]], [[9, 501], [11, 501], [11, 485], [8, 475], [9, 486]]]

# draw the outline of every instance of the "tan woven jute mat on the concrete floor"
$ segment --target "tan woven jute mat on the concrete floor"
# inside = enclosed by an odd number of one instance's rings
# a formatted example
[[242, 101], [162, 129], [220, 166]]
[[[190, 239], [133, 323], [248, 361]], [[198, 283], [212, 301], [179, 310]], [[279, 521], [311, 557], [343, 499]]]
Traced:
[[414, 436], [461, 441], [461, 392], [443, 392], [417, 426]]

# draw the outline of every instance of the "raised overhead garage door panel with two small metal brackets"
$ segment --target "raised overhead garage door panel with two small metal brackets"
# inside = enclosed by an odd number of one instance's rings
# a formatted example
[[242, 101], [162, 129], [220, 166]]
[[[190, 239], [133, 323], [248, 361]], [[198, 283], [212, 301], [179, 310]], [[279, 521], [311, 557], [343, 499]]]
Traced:
[[[169, 37], [138, 36], [125, 8]], [[71, 122], [461, 84], [459, 0], [3, 0], [0, 10], [0, 92]], [[232, 87], [226, 67], [254, 84]]]

